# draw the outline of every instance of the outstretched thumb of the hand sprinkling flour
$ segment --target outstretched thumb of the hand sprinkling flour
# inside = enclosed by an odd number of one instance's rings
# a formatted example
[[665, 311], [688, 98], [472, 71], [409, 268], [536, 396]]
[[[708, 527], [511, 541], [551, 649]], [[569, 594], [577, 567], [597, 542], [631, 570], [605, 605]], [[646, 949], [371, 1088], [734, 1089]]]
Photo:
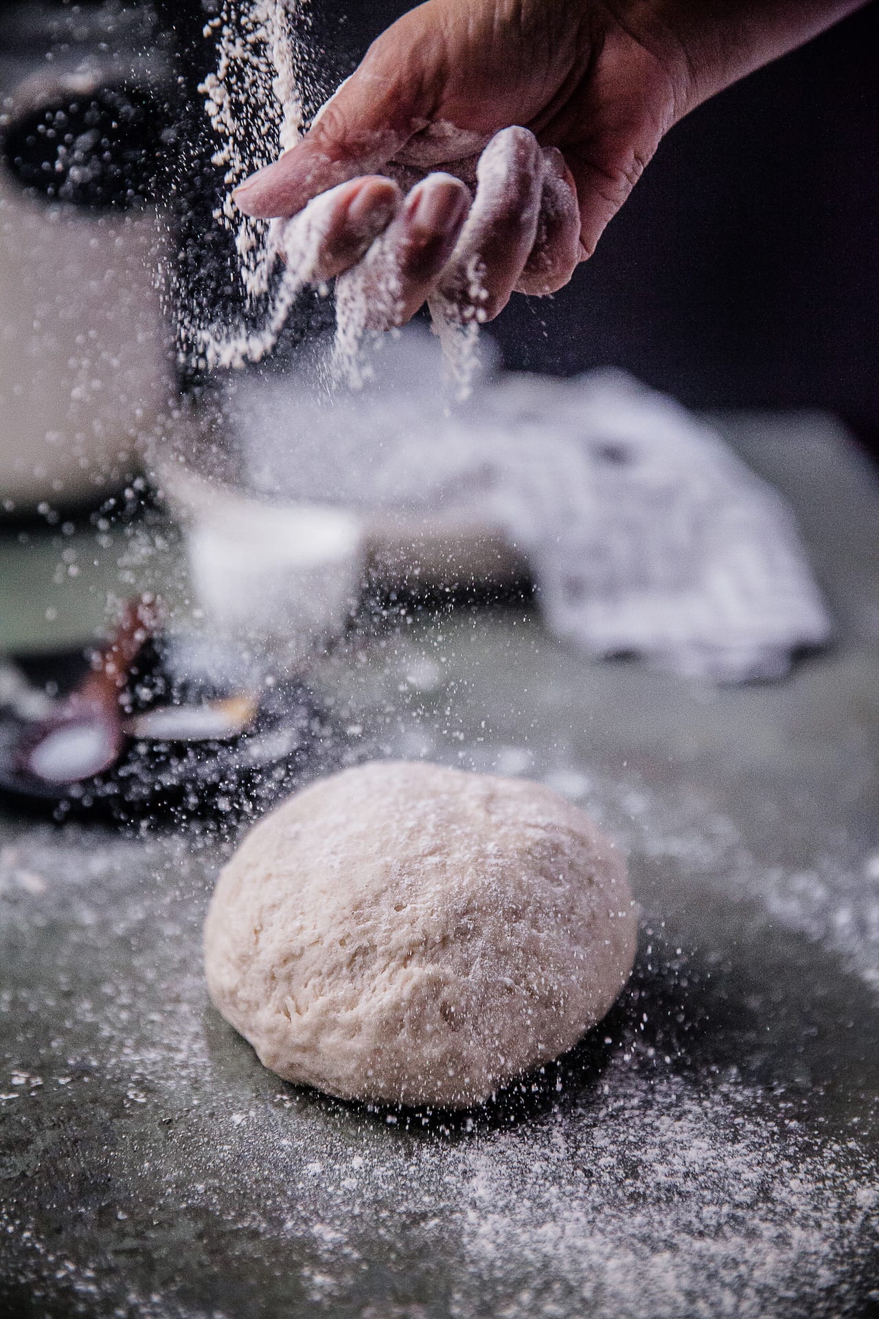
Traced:
[[257, 219], [295, 215], [319, 193], [380, 173], [424, 127], [415, 113], [419, 80], [411, 77], [415, 34], [409, 28], [405, 20], [389, 28], [302, 141], [236, 189], [240, 211]]

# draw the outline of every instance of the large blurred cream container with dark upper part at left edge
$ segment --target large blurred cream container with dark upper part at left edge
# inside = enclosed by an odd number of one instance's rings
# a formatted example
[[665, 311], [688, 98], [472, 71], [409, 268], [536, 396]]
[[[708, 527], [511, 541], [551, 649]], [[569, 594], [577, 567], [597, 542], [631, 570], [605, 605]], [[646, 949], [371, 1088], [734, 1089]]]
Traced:
[[133, 22], [63, 17], [16, 7], [0, 57], [0, 516], [18, 518], [125, 485], [177, 389], [145, 200], [157, 70]]

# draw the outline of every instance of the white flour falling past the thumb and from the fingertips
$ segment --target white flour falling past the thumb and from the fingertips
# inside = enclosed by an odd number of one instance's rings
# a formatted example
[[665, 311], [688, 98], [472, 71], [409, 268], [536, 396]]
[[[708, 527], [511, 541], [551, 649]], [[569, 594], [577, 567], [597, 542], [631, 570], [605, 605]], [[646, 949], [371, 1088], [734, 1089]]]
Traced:
[[[316, 260], [331, 218], [335, 190], [315, 198], [289, 222], [254, 220], [232, 199], [235, 189], [254, 170], [271, 164], [299, 140], [304, 100], [323, 99], [308, 50], [297, 30], [303, 0], [225, 0], [221, 13], [204, 28], [217, 44], [217, 67], [202, 83], [206, 111], [219, 140], [212, 157], [223, 168], [224, 195], [213, 219], [228, 230], [237, 253], [237, 280], [245, 315], [239, 324], [203, 319], [191, 309], [186, 326], [187, 364], [213, 369], [261, 361], [274, 348], [297, 299], [318, 286]], [[245, 154], [246, 153], [246, 154]], [[447, 372], [460, 396], [469, 393], [477, 367], [478, 262], [467, 262], [472, 297], [461, 313], [441, 297], [431, 301], [434, 330], [440, 339]], [[370, 376], [364, 346], [377, 342], [395, 319], [401, 297], [397, 256], [383, 236], [366, 256], [336, 281], [336, 336], [329, 361], [335, 383], [357, 388]]]

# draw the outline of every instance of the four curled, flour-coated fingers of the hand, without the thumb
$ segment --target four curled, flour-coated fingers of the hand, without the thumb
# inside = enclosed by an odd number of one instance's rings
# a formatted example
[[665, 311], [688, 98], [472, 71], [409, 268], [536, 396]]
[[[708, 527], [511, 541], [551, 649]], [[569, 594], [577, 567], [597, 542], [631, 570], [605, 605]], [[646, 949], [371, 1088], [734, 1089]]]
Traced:
[[449, 174], [430, 174], [405, 202], [389, 178], [349, 179], [275, 222], [273, 241], [302, 284], [358, 266], [337, 294], [362, 299], [364, 328], [403, 324], [428, 299], [445, 318], [489, 321], [514, 289], [561, 288], [584, 251], [559, 150], [540, 150], [527, 129], [505, 129], [480, 157], [476, 178], [472, 207], [468, 187]]

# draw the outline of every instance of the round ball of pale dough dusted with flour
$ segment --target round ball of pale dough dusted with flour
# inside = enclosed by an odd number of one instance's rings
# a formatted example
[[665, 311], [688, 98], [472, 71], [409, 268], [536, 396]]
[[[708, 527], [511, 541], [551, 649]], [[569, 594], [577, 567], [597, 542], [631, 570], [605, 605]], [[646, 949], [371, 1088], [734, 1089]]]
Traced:
[[213, 1002], [279, 1076], [464, 1108], [604, 1017], [635, 934], [619, 852], [556, 793], [373, 762], [257, 824], [204, 948]]

